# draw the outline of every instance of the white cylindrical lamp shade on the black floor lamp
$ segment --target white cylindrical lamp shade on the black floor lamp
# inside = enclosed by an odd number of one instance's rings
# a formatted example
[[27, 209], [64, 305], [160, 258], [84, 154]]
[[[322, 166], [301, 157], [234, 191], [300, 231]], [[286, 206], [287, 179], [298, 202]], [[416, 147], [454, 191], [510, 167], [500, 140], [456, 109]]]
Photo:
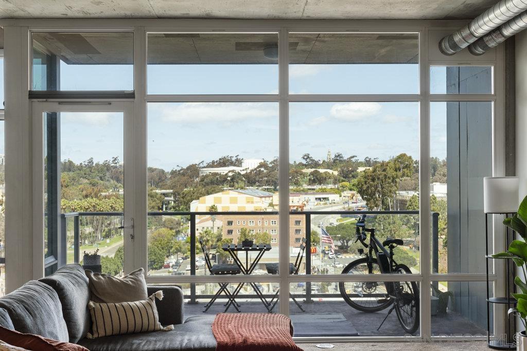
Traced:
[[483, 210], [485, 213], [514, 213], [520, 205], [518, 177], [483, 178]]

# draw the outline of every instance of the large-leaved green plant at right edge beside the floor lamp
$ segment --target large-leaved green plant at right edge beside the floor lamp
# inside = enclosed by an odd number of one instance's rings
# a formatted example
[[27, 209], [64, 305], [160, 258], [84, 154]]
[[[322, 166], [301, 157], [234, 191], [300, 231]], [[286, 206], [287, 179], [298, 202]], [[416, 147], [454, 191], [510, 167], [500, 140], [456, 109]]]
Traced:
[[523, 324], [523, 331], [518, 333], [516, 338], [516, 349], [527, 351], [527, 196], [522, 200], [518, 212], [510, 218], [505, 218], [503, 224], [514, 230], [521, 236], [522, 240], [513, 240], [506, 252], [492, 255], [496, 258], [509, 258], [514, 261], [516, 266], [521, 267], [523, 280], [521, 277], [514, 278], [514, 284], [518, 286], [520, 293], [512, 294], [516, 299], [516, 307], [509, 309], [509, 315], [520, 318]]

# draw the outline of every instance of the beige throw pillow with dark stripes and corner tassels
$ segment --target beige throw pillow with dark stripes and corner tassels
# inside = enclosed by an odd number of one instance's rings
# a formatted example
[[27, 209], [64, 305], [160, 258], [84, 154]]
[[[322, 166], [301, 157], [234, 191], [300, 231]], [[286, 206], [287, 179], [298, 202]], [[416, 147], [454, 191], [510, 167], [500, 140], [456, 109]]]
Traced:
[[90, 301], [88, 308], [92, 315], [92, 333], [86, 335], [93, 339], [101, 336], [155, 332], [172, 330], [173, 325], [163, 327], [159, 323], [155, 299], [163, 299], [159, 290], [142, 301], [121, 303], [97, 303]]

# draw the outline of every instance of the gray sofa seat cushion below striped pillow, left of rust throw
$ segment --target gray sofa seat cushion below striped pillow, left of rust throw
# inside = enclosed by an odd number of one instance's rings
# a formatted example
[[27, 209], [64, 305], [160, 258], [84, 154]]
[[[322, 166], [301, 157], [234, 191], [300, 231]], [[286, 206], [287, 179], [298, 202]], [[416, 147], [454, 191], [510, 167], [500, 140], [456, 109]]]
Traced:
[[212, 322], [216, 316], [195, 316], [185, 323], [174, 325], [170, 332], [105, 336], [82, 339], [79, 344], [91, 351], [141, 350], [141, 351], [215, 351], [216, 338]]

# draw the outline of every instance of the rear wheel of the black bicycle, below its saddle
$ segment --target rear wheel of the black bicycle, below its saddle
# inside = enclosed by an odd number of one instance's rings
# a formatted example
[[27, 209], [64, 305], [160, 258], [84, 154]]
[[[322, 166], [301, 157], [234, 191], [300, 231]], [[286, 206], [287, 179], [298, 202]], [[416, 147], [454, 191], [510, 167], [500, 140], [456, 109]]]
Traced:
[[[399, 274], [412, 274], [408, 266], [399, 264], [395, 266]], [[396, 285], [399, 286], [396, 286]], [[405, 291], [401, 292], [401, 288]], [[414, 334], [419, 328], [419, 288], [416, 282], [394, 282], [395, 314], [406, 333]], [[400, 296], [399, 296], [400, 295]], [[408, 313], [408, 310], [410, 313]]]

